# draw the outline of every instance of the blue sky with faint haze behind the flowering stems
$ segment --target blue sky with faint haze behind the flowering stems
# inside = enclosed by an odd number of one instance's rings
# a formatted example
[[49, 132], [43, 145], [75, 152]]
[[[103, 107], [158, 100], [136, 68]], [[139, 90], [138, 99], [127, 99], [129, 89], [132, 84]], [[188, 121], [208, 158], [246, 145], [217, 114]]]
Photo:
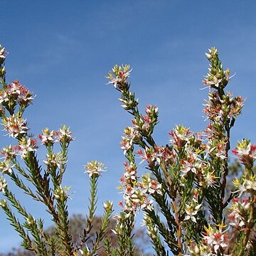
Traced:
[[[255, 12], [255, 1], [237, 0], [1, 1], [7, 79], [20, 80], [37, 95], [26, 112], [31, 132], [66, 124], [76, 137], [64, 180], [75, 191], [70, 213], [87, 210], [82, 165], [93, 159], [107, 166], [100, 178], [98, 213], [103, 201], [122, 198], [116, 189], [124, 161], [119, 141], [131, 117], [120, 107], [119, 93], [105, 85], [115, 63], [132, 66], [132, 90], [141, 110], [146, 104], [159, 106], [155, 138], [166, 144], [176, 124], [193, 131], [206, 125], [202, 103], [207, 90], [199, 88], [208, 68], [204, 53], [217, 47], [224, 67], [236, 73], [228, 89], [247, 99], [232, 144], [244, 137], [256, 141]], [[1, 140], [1, 147], [6, 143]], [[42, 207], [19, 198], [50, 225]], [[0, 252], [18, 245], [2, 211], [0, 230]]]

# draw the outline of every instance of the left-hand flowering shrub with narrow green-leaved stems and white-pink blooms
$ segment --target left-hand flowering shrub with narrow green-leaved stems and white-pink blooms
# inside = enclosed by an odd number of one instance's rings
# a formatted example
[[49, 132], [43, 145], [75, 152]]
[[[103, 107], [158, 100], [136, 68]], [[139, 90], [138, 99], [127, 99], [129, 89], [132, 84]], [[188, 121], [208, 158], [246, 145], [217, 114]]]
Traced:
[[[29, 127], [23, 113], [26, 107], [32, 104], [33, 93], [18, 81], [6, 83], [4, 60], [6, 50], [0, 46], [0, 115], [4, 131], [9, 137], [16, 139], [15, 145], [6, 146], [1, 150], [0, 161], [0, 191], [6, 199], [0, 201], [0, 206], [7, 215], [11, 225], [23, 239], [22, 246], [36, 253], [36, 255], [94, 255], [102, 247], [105, 238], [110, 215], [112, 214], [112, 202], [104, 204], [105, 214], [102, 225], [90, 249], [85, 242], [90, 239], [92, 221], [95, 218], [95, 204], [97, 201], [97, 179], [104, 169], [103, 164], [92, 161], [85, 166], [90, 176], [91, 197], [89, 214], [87, 215], [86, 228], [80, 235], [80, 243], [74, 245], [70, 235], [68, 206], [69, 188], [63, 187], [62, 179], [65, 173], [68, 146], [74, 139], [70, 129], [63, 126], [58, 131], [46, 128], [38, 135], [38, 138], [28, 134]], [[41, 146], [46, 147], [46, 159], [44, 167], [38, 162], [36, 151]], [[60, 151], [55, 151], [56, 144], [60, 145]], [[46, 206], [46, 210], [52, 215], [55, 224], [55, 235], [50, 236], [45, 232], [43, 220], [35, 219], [27, 212], [18, 201], [18, 198], [9, 190], [4, 175], [14, 181], [18, 188]], [[32, 186], [28, 187], [23, 182], [28, 181]], [[16, 213], [11, 206], [23, 216], [21, 223], [16, 218]]]

